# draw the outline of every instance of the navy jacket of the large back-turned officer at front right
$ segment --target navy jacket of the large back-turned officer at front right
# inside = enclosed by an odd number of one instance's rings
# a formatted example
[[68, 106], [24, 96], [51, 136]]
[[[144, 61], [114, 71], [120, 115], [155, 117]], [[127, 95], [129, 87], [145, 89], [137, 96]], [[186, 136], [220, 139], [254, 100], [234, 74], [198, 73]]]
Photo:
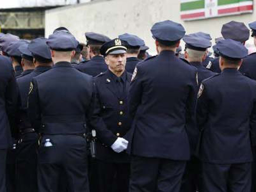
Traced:
[[197, 123], [202, 132], [200, 157], [210, 163], [253, 160], [250, 129], [256, 128], [256, 81], [235, 68], [202, 82]]

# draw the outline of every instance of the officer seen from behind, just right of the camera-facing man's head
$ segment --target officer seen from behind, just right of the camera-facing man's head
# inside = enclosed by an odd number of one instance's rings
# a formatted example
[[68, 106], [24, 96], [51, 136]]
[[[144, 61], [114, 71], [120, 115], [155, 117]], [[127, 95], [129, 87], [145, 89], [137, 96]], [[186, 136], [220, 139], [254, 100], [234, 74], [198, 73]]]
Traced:
[[138, 55], [140, 53], [140, 47], [145, 45], [145, 42], [138, 36], [129, 33], [119, 35], [119, 39], [126, 41], [128, 44], [125, 70], [128, 73], [133, 73], [137, 63], [141, 61], [138, 59]]

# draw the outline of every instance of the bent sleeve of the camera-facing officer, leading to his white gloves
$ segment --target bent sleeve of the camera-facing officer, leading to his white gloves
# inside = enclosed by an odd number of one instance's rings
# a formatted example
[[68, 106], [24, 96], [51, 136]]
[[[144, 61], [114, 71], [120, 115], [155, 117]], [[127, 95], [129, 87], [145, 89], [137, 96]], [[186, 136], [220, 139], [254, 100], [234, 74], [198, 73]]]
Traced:
[[93, 99], [92, 99], [92, 112], [89, 119], [89, 125], [91, 128], [96, 130], [97, 138], [105, 145], [111, 146], [117, 139], [117, 137], [107, 128], [105, 122], [100, 116], [100, 99], [99, 92], [96, 83], [93, 86]]

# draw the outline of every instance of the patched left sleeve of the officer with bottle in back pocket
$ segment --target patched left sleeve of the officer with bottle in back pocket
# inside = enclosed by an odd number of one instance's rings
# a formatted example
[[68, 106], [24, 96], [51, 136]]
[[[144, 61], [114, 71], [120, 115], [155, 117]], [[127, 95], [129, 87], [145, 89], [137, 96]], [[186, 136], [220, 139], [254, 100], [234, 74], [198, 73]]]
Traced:
[[32, 128], [37, 132], [40, 131], [41, 126], [41, 109], [39, 103], [38, 85], [33, 78], [29, 87], [28, 115]]

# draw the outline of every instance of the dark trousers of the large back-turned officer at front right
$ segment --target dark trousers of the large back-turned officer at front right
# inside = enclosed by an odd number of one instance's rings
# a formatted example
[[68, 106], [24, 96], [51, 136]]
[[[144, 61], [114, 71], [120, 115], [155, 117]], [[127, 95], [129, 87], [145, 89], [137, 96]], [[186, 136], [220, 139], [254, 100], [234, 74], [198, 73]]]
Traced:
[[203, 192], [250, 192], [252, 163], [202, 163]]

